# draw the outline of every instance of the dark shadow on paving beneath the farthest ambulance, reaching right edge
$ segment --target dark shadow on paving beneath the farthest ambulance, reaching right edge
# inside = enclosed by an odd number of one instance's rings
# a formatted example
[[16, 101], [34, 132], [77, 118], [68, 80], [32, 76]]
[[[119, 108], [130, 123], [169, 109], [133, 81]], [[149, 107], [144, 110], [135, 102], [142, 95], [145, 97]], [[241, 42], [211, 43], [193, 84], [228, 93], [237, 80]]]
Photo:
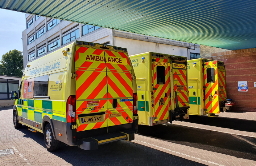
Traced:
[[189, 115], [189, 119], [186, 119], [184, 121], [196, 124], [204, 124], [208, 126], [230, 128], [233, 130], [240, 130], [246, 132], [256, 132], [256, 120], [252, 121], [228, 117], [208, 117]]

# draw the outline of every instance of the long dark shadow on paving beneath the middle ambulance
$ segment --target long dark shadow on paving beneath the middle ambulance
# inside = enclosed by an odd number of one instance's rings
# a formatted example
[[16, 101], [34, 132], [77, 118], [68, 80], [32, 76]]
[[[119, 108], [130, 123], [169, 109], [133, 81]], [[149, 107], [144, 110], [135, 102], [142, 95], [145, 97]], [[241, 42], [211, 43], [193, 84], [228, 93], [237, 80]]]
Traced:
[[256, 160], [256, 138], [253, 137], [238, 136], [175, 124], [159, 124], [156, 126], [139, 125], [138, 134], [164, 139], [175, 144], [235, 156], [237, 158]]

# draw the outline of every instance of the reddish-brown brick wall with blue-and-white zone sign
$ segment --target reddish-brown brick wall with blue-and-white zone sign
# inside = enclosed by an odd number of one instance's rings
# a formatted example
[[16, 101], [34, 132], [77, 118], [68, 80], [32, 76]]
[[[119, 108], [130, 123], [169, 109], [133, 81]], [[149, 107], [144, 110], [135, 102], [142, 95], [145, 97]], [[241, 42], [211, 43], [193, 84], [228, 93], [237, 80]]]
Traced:
[[[201, 48], [201, 46], [200, 46]], [[256, 112], [256, 48], [212, 53], [212, 59], [226, 65], [227, 98], [233, 99], [234, 111]], [[238, 81], [247, 81], [248, 92], [238, 92]]]

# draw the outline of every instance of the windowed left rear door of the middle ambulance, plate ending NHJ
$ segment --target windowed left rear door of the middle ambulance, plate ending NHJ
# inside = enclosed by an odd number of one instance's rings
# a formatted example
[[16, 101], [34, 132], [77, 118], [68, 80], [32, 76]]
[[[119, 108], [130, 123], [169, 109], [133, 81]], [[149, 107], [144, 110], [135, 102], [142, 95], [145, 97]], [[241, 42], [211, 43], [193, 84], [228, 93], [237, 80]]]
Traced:
[[154, 82], [154, 117], [155, 122], [169, 119], [168, 106], [168, 59], [154, 58], [153, 82]]

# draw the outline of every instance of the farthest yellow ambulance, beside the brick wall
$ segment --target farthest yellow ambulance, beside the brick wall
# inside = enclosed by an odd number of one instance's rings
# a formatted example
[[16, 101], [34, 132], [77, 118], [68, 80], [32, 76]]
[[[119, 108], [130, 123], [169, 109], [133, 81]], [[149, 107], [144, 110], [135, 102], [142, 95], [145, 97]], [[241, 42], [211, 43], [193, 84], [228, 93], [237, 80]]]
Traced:
[[227, 101], [224, 62], [188, 60], [188, 91], [189, 115], [217, 117]]

